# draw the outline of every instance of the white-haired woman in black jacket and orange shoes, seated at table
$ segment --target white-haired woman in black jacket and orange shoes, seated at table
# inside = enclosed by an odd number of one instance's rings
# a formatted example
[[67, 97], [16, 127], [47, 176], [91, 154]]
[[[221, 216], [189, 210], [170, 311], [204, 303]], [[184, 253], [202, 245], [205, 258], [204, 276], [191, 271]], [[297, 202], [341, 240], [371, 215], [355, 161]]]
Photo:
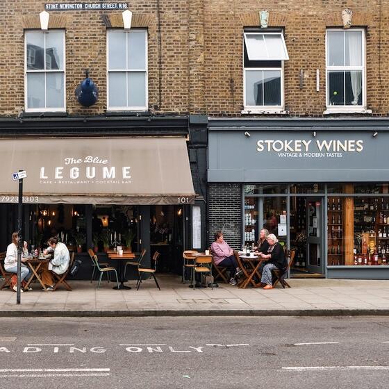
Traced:
[[262, 274], [260, 285], [264, 286], [263, 289], [272, 289], [272, 270], [283, 269], [288, 263], [283, 247], [279, 244], [274, 233], [267, 236], [267, 243], [269, 243], [267, 251], [259, 254], [260, 258], [266, 259], [266, 261], [260, 264], [258, 271]]

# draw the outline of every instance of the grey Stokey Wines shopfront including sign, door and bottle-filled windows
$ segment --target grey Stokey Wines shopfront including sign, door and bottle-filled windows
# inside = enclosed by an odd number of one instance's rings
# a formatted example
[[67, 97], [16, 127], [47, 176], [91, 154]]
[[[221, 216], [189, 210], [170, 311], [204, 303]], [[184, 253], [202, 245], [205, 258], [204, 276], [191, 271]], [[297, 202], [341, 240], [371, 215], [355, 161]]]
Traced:
[[214, 119], [208, 182], [238, 183], [242, 244], [296, 251], [292, 277], [389, 278], [385, 119]]

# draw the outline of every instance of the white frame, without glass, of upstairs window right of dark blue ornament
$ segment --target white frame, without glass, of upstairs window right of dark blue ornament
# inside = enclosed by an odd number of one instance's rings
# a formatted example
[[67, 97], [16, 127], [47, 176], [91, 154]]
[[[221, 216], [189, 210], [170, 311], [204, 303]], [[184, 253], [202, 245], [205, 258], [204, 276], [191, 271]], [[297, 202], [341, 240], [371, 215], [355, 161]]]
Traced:
[[[145, 58], [144, 58], [144, 69], [128, 69], [128, 60], [129, 60], [129, 53], [128, 53], [128, 40], [129, 40], [129, 33], [131, 31], [144, 31], [145, 33]], [[109, 38], [108, 36], [110, 33], [126, 33], [126, 67], [127, 69], [109, 69]], [[106, 33], [106, 82], [107, 82], [107, 111], [115, 112], [115, 111], [146, 111], [149, 109], [149, 31], [147, 28], [131, 28], [129, 31], [125, 31], [124, 28], [108, 28]], [[128, 90], [128, 74], [129, 73], [144, 73], [144, 98], [145, 98], [145, 105], [144, 106], [110, 106], [109, 101], [109, 74], [110, 73], [126, 73], [126, 101], [128, 103], [129, 99], [129, 90]]]

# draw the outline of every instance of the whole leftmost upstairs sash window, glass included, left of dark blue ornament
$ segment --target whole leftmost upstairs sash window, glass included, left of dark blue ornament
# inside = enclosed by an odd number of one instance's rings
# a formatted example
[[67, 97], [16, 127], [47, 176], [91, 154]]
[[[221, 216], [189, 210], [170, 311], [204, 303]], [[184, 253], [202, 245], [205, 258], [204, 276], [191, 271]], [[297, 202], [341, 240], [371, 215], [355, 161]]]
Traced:
[[65, 31], [25, 33], [26, 111], [65, 110]]

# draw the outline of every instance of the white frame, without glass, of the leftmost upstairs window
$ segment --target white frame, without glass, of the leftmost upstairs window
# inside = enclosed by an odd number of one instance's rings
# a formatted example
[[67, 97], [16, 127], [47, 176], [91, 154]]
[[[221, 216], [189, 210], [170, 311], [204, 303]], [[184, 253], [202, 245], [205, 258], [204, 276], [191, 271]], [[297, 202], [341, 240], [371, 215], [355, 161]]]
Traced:
[[[60, 31], [63, 33], [63, 69], [46, 69], [46, 37], [47, 33], [51, 31]], [[27, 69], [27, 33], [43, 34], [44, 36], [44, 69], [31, 70]], [[34, 53], [35, 56], [35, 53]], [[42, 73], [44, 74], [44, 108], [28, 108], [28, 88], [27, 88], [27, 74], [28, 73]], [[47, 79], [48, 73], [63, 73], [63, 107], [47, 107]], [[26, 112], [66, 112], [66, 31], [65, 28], [50, 28], [48, 31], [37, 29], [24, 30], [24, 110]]]

